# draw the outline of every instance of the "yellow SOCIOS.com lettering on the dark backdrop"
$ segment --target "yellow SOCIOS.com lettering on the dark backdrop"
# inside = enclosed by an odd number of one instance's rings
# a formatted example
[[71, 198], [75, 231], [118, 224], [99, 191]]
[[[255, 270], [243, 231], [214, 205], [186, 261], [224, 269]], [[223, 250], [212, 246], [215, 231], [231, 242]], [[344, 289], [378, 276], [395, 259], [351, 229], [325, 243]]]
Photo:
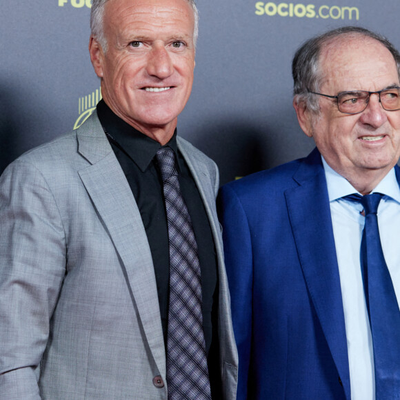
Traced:
[[299, 18], [322, 18], [322, 19], [360, 19], [360, 12], [357, 7], [339, 6], [320, 6], [316, 9], [314, 4], [294, 4], [294, 3], [263, 3], [257, 1], [255, 13], [257, 15], [279, 15], [281, 17]]

